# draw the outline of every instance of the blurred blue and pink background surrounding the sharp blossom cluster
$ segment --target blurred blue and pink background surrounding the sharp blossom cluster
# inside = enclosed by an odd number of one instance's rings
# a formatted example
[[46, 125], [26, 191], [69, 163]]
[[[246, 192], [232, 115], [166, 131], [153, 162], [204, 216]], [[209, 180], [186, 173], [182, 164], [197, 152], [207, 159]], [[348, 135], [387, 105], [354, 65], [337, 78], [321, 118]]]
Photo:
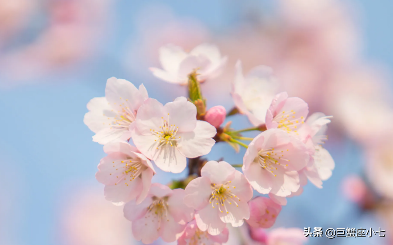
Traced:
[[[144, 83], [161, 103], [184, 96], [186, 87], [148, 70], [159, 65], [158, 47], [211, 42], [229, 62], [202, 86], [208, 107], [234, 106], [241, 59], [245, 71], [273, 67], [281, 90], [334, 116], [325, 145], [333, 176], [289, 199], [274, 227], [381, 227], [385, 238], [308, 244], [392, 245], [392, 8], [390, 0], [0, 0], [0, 244], [138, 244], [95, 180], [104, 153], [83, 124], [86, 104], [113, 76]], [[207, 157], [241, 163], [243, 154], [219, 143]], [[154, 182], [184, 174], [159, 172]]]

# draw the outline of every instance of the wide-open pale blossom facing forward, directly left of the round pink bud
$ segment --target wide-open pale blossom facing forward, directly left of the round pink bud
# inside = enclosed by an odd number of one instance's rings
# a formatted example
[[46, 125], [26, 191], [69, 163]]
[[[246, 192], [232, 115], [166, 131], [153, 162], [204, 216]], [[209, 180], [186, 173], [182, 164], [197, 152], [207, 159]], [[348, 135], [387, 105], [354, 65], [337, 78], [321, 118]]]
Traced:
[[196, 120], [196, 107], [185, 97], [165, 106], [147, 99], [136, 116], [132, 140], [159, 168], [179, 173], [186, 168], [186, 158], [210, 152], [216, 132], [210, 123]]

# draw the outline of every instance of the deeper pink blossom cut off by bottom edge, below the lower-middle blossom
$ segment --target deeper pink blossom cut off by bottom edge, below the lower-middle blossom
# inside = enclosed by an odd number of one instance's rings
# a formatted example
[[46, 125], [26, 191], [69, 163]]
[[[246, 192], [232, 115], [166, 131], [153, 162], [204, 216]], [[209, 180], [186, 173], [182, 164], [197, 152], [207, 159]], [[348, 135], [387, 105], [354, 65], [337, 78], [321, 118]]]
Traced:
[[219, 235], [212, 236], [207, 231], [201, 231], [196, 225], [196, 220], [187, 224], [186, 230], [177, 241], [178, 245], [221, 245], [228, 241], [228, 228]]

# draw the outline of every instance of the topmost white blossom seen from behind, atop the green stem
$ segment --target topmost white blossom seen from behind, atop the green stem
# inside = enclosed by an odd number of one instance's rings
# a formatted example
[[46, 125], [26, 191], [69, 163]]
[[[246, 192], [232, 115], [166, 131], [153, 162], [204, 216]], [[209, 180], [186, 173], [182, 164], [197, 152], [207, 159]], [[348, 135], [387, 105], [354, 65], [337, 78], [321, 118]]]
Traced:
[[207, 43], [196, 46], [189, 53], [173, 44], [164, 45], [159, 49], [159, 60], [163, 70], [150, 68], [153, 75], [177, 84], [187, 83], [188, 75], [195, 70], [200, 81], [215, 78], [227, 63], [227, 57], [222, 57], [215, 45]]

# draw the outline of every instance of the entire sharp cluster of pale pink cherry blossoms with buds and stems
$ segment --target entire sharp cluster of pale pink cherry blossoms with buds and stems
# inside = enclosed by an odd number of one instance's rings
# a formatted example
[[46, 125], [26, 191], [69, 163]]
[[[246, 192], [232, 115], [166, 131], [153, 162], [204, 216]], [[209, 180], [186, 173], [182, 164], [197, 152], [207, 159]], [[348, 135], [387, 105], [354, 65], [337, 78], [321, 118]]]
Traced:
[[[104, 145], [107, 154], [98, 164], [96, 178], [105, 185], [108, 201], [124, 205], [136, 240], [223, 244], [228, 241], [229, 223], [251, 231], [270, 228], [287, 197], [300, 195], [308, 180], [322, 188], [322, 181], [331, 176], [334, 161], [322, 147], [331, 117], [309, 116], [305, 101], [277, 93], [271, 68], [259, 66], [244, 77], [241, 62], [236, 63], [232, 89], [236, 107], [227, 114], [222, 106], [207, 110], [200, 88], [201, 82], [217, 77], [225, 67], [227, 57], [215, 45], [201, 44], [186, 52], [168, 44], [160, 48], [159, 58], [162, 69], [151, 68], [153, 74], [188, 85], [188, 98], [163, 105], [149, 98], [143, 84], [137, 88], [110, 78], [105, 97], [93, 98], [84, 117], [95, 133], [93, 141]], [[234, 130], [230, 122], [224, 125], [234, 114], [247, 116], [253, 127]], [[259, 134], [248, 138], [241, 135], [244, 131]], [[243, 142], [247, 140], [251, 142]], [[235, 150], [246, 148], [243, 163], [200, 158], [219, 142]], [[180, 173], [186, 167], [190, 174], [184, 180], [152, 183], [156, 168]], [[254, 190], [270, 198], [253, 198]], [[287, 232], [282, 229], [286, 233], [282, 238], [275, 235], [263, 241], [288, 242]]]

